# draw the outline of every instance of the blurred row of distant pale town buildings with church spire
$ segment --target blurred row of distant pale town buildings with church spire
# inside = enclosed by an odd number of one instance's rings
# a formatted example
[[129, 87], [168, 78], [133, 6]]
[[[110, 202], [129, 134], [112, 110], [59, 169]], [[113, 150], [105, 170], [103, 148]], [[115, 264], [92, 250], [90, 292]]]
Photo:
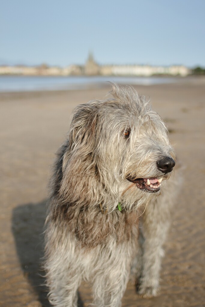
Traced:
[[25, 65], [0, 66], [0, 75], [23, 76], [182, 76], [190, 75], [192, 70], [183, 65], [151, 66], [151, 65], [99, 65], [89, 53], [85, 65], [70, 65], [67, 67]]

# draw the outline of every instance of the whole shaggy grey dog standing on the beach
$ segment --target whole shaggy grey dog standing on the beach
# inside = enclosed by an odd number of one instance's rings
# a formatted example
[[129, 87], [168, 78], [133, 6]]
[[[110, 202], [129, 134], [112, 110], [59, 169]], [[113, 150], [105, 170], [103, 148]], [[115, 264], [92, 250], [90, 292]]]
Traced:
[[55, 306], [76, 307], [82, 279], [92, 283], [97, 307], [121, 306], [130, 276], [144, 296], [159, 285], [178, 188], [169, 179], [175, 153], [144, 96], [116, 84], [111, 94], [76, 108], [57, 154], [45, 247]]

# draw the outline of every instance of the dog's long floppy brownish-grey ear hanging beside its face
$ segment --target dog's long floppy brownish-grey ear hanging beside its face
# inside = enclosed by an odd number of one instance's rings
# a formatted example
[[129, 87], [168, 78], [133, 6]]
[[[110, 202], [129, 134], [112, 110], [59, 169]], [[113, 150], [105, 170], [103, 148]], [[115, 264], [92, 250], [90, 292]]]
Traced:
[[86, 194], [86, 187], [93, 182], [97, 165], [97, 131], [96, 108], [88, 104], [78, 107], [71, 122], [69, 145], [62, 161], [61, 195], [75, 191], [73, 197], [82, 196], [83, 191]]

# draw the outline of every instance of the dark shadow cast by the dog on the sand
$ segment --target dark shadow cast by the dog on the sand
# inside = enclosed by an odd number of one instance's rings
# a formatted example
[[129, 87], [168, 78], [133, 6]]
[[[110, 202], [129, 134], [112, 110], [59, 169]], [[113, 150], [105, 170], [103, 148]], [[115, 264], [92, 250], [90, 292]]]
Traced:
[[[45, 216], [46, 200], [18, 206], [13, 209], [12, 231], [24, 275], [37, 293], [42, 307], [49, 307], [42, 269]], [[80, 295], [78, 297], [78, 306], [83, 307]]]

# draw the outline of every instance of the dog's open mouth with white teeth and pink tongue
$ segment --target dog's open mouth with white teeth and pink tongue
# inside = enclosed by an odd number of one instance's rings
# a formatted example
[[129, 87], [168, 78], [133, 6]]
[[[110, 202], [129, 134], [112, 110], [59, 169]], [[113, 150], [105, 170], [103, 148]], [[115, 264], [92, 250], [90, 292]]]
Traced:
[[136, 184], [137, 188], [145, 192], [156, 193], [160, 190], [160, 185], [163, 177], [150, 177], [150, 178], [133, 178], [128, 176], [127, 180]]

